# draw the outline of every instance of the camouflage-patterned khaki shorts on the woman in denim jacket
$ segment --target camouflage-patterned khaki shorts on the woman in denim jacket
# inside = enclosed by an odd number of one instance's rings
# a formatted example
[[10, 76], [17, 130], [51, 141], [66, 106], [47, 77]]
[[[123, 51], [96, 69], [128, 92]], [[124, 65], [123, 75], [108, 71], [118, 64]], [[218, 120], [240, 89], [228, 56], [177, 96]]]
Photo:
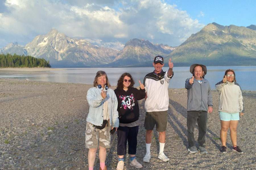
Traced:
[[111, 126], [106, 125], [104, 129], [97, 129], [93, 127], [93, 124], [86, 122], [85, 130], [85, 147], [86, 148], [98, 148], [102, 146], [104, 148], [110, 148], [110, 129]]

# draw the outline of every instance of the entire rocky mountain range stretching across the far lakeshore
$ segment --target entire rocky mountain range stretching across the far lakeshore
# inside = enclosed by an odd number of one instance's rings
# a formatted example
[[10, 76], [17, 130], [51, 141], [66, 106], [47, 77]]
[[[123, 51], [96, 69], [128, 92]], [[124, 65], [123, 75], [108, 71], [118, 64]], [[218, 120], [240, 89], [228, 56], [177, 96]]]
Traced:
[[50, 61], [51, 67], [143, 67], [152, 66], [155, 56], [172, 58], [175, 66], [256, 65], [256, 25], [239, 27], [217, 23], [206, 25], [178, 47], [153, 44], [144, 39], [129, 40], [123, 50], [92, 45], [84, 39], [69, 38], [52, 29], [25, 46], [11, 43], [0, 53], [30, 55]]

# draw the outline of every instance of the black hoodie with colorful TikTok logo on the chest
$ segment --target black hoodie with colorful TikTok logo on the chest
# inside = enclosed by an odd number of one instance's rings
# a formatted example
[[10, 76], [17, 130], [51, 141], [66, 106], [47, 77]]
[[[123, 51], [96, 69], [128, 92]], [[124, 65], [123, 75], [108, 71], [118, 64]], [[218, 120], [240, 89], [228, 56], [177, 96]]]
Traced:
[[139, 119], [139, 104], [138, 100], [145, 98], [145, 89], [138, 90], [130, 87], [125, 92], [123, 89], [116, 88], [115, 95], [118, 101], [118, 118], [120, 123], [132, 123]]

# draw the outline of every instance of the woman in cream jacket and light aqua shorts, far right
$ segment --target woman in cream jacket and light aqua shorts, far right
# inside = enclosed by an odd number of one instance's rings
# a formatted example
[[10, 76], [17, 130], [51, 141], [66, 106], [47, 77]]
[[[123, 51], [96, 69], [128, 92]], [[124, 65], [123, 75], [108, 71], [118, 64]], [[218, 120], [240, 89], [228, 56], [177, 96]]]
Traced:
[[220, 92], [219, 114], [220, 114], [220, 139], [222, 147], [221, 153], [226, 153], [227, 131], [230, 129], [230, 137], [233, 144], [233, 151], [242, 154], [243, 151], [237, 146], [237, 126], [239, 113], [244, 114], [243, 96], [239, 84], [236, 82], [236, 74], [232, 69], [225, 72], [223, 80], [215, 85]]

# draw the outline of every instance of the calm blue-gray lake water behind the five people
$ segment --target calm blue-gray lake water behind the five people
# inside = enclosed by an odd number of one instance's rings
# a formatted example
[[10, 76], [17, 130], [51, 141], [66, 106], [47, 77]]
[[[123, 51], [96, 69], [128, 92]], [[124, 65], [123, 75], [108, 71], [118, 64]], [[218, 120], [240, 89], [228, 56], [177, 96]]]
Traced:
[[[185, 88], [185, 80], [192, 77], [189, 72], [190, 67], [174, 67], [174, 77], [171, 79], [169, 88]], [[59, 68], [58, 68], [59, 69]], [[29, 79], [48, 82], [70, 82], [93, 84], [96, 72], [103, 70], [107, 73], [110, 84], [117, 85], [117, 80], [122, 73], [128, 72], [133, 76], [135, 87], [139, 86], [139, 80], [143, 83], [144, 76], [154, 71], [154, 67], [122, 67], [122, 68], [60, 68], [61, 70], [47, 71], [49, 74], [27, 74], [27, 75], [0, 75], [0, 78]], [[233, 69], [236, 72], [236, 81], [242, 90], [256, 91], [256, 66], [209, 66], [205, 78], [210, 82], [212, 89], [215, 84], [222, 80], [227, 69]], [[168, 67], [163, 67], [164, 71]], [[52, 73], [52, 74], [50, 74]]]

